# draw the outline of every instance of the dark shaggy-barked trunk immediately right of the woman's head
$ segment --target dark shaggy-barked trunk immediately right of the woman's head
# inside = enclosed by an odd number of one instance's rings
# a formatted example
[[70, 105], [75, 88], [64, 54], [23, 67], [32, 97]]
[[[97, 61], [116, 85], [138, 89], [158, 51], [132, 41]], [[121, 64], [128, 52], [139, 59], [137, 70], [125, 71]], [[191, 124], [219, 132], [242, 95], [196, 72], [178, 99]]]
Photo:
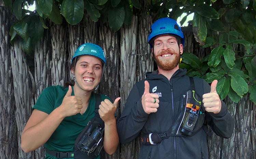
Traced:
[[[117, 33], [111, 31], [106, 25], [99, 27], [99, 45], [103, 48], [106, 57], [106, 66], [103, 77], [99, 84], [101, 94], [109, 96], [114, 102], [115, 98], [119, 97], [119, 38]], [[120, 102], [119, 102], [120, 103]], [[117, 107], [117, 114], [119, 114]], [[112, 159], [120, 158], [120, 148], [118, 147], [113, 155], [101, 153], [102, 158]]]

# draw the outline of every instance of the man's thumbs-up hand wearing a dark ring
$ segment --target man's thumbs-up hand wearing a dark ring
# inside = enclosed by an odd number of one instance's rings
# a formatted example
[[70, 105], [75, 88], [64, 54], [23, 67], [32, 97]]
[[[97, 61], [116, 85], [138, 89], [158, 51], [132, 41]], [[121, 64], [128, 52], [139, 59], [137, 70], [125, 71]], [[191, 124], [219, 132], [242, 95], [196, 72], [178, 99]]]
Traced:
[[147, 114], [155, 113], [159, 107], [159, 96], [155, 93], [149, 93], [150, 85], [148, 81], [145, 81], [144, 84], [145, 90], [141, 99], [143, 109]]

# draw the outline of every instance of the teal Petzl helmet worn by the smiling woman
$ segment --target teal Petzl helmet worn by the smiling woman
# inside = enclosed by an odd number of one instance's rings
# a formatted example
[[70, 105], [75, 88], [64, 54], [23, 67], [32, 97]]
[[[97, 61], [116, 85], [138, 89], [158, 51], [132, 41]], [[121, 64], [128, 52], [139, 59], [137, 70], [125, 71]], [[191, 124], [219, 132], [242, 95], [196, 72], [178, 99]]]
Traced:
[[96, 45], [96, 44], [91, 44], [91, 43], [85, 43], [81, 46], [79, 46], [79, 48], [76, 49], [75, 54], [71, 60], [71, 63], [73, 62], [73, 59], [75, 59], [75, 57], [80, 56], [80, 55], [91, 55], [94, 56], [96, 58], [99, 58], [105, 65], [106, 64], [106, 58], [105, 58], [105, 54], [103, 49]]

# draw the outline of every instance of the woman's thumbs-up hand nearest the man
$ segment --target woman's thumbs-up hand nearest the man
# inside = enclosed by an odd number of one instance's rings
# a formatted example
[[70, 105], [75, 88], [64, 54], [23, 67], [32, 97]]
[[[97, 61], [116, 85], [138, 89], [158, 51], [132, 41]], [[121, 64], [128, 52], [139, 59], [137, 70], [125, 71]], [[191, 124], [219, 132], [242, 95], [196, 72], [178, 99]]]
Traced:
[[115, 120], [115, 111], [118, 105], [118, 101], [120, 99], [121, 97], [116, 98], [113, 104], [109, 99], [105, 99], [104, 101], [101, 101], [99, 105], [99, 114], [100, 114], [100, 118], [105, 123], [111, 120]]

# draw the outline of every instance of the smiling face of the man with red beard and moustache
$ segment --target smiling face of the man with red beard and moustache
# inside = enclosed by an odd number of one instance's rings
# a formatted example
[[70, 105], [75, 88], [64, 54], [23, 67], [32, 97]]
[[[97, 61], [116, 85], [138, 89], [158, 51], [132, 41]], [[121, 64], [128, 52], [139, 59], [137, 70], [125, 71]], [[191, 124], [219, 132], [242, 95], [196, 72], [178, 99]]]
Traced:
[[172, 70], [175, 67], [179, 67], [178, 64], [183, 53], [183, 45], [178, 45], [177, 39], [174, 36], [159, 36], [154, 40], [152, 52], [158, 68]]

